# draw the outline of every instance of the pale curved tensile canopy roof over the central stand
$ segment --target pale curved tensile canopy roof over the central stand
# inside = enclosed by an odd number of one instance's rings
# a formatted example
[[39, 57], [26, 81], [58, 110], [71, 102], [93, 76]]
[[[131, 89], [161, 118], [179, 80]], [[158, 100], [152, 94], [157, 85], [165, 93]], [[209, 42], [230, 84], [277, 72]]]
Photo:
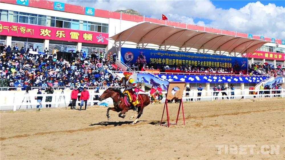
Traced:
[[178, 48], [196, 48], [228, 53], [251, 53], [267, 43], [264, 40], [231, 36], [225, 34], [202, 32], [177, 28], [152, 22], [139, 23], [110, 39], [135, 42], [137, 44], [156, 44], [158, 46], [175, 46]]

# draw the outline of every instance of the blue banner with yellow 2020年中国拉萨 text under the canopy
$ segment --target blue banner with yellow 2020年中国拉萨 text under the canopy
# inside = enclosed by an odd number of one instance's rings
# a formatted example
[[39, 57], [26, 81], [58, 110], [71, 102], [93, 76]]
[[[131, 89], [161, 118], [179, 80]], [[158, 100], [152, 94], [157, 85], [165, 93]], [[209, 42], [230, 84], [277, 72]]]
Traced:
[[148, 65], [154, 65], [157, 68], [163, 66], [182, 66], [207, 68], [226, 68], [228, 71], [233, 69], [233, 72], [243, 74], [247, 73], [247, 58], [243, 57], [228, 57], [209, 54], [196, 54], [184, 52], [170, 52], [160, 50], [148, 50], [137, 48], [121, 48], [121, 60], [124, 63], [136, 63], [137, 59], [145, 60]]

